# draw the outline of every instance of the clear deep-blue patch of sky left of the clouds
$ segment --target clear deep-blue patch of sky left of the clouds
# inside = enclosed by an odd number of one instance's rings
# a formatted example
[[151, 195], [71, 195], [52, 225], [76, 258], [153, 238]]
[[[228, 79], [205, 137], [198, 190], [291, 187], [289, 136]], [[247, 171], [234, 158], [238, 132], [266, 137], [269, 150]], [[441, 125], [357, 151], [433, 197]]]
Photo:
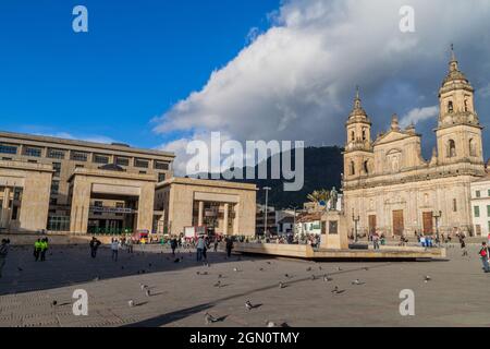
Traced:
[[[72, 31], [88, 9], [89, 33]], [[2, 0], [0, 129], [155, 147], [150, 120], [267, 28], [279, 0]]]

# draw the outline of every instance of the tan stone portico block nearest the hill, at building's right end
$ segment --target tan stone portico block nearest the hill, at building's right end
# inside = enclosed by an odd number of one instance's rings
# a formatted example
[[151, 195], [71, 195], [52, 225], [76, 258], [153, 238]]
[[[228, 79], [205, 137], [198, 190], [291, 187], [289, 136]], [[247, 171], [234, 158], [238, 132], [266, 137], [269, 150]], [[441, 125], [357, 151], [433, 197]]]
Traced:
[[255, 236], [255, 184], [171, 178], [157, 184], [159, 230], [180, 234], [206, 227], [217, 234]]

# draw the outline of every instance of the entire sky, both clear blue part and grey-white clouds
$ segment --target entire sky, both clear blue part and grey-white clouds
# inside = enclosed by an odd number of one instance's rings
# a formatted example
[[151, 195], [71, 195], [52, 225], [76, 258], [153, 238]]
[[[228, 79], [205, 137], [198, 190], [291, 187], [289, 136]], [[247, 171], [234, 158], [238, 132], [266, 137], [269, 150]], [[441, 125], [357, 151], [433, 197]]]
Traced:
[[[408, 3], [414, 33], [406, 0], [2, 0], [0, 129], [164, 148], [182, 170], [215, 131], [343, 145], [360, 85], [372, 137], [397, 113], [428, 158], [454, 44], [488, 158], [490, 0]], [[77, 4], [88, 34], [72, 31]]]

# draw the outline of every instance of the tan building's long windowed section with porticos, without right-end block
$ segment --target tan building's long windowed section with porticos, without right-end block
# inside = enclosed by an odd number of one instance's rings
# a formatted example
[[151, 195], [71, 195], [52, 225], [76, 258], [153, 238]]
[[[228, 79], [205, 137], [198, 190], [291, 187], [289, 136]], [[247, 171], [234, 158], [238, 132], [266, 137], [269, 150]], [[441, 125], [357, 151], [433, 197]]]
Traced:
[[151, 230], [155, 185], [172, 177], [173, 159], [124, 144], [0, 132], [0, 228]]

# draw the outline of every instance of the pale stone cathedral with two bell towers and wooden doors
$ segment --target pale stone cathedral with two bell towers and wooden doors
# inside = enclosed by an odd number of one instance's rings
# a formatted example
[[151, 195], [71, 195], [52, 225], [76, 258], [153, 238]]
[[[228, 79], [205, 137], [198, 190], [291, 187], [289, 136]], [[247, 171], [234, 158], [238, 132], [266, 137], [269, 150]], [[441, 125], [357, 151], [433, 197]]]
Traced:
[[[473, 236], [470, 183], [485, 176], [482, 139], [474, 88], [452, 52], [439, 91], [437, 147], [421, 155], [421, 136], [396, 116], [371, 139], [359, 93], [346, 122], [343, 194], [348, 231], [413, 236], [455, 231]], [[356, 227], [356, 228], [355, 228]]]

